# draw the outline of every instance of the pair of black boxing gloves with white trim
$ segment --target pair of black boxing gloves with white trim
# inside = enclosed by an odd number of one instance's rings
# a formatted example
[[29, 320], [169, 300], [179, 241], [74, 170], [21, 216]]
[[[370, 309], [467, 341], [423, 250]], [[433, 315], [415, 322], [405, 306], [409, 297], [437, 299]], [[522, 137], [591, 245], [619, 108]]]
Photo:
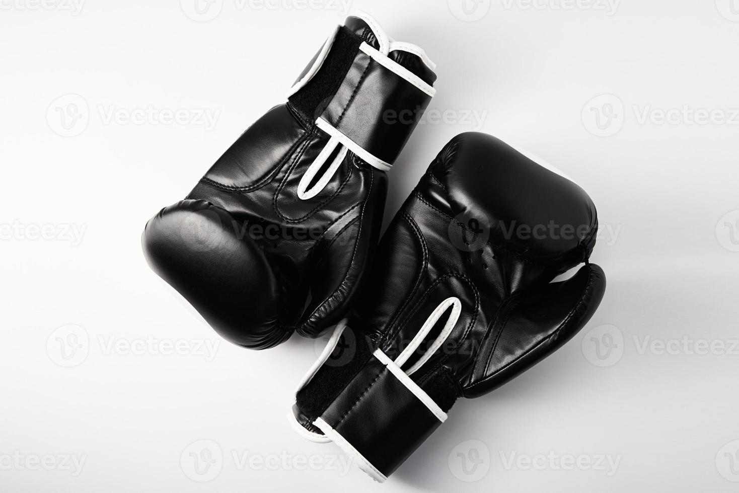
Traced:
[[378, 244], [386, 172], [434, 70], [418, 46], [350, 16], [287, 102], [143, 233], [151, 268], [237, 345], [335, 327], [290, 418], [380, 481], [458, 398], [573, 337], [605, 291], [585, 191], [486, 134], [444, 146]]

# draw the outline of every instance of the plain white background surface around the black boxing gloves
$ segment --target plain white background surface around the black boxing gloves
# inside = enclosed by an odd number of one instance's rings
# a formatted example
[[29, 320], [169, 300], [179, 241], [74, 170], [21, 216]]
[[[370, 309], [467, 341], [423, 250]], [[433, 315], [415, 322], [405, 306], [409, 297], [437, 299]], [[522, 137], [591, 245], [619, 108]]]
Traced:
[[350, 2], [438, 65], [446, 122], [409, 141], [386, 219], [486, 131], [588, 190], [608, 277], [581, 334], [459, 401], [384, 486], [287, 426], [320, 343], [221, 342], [140, 251], [343, 7], [80, 1], [0, 0], [1, 491], [737, 490], [739, 1]]

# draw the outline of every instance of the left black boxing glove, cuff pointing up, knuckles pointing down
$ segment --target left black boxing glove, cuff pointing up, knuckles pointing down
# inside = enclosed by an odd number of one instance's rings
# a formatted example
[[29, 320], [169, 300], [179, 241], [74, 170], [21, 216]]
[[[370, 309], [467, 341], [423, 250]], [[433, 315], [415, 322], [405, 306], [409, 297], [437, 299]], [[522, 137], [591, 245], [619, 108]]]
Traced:
[[435, 92], [433, 68], [369, 16], [347, 18], [287, 103], [146, 224], [151, 268], [246, 348], [335, 325], [379, 237], [385, 172]]

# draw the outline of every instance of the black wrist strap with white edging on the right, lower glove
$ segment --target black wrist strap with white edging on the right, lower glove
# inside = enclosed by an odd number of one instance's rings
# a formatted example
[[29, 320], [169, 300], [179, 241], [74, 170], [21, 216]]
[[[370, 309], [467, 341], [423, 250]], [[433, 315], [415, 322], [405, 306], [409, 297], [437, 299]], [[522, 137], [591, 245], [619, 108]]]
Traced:
[[446, 413], [381, 350], [313, 424], [384, 481], [446, 421]]

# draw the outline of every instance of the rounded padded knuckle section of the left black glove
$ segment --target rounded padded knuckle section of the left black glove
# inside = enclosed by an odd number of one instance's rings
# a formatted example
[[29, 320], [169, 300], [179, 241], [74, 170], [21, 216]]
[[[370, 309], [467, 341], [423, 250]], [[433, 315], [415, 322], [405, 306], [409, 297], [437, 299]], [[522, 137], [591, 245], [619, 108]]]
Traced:
[[185, 200], [146, 224], [146, 260], [225, 339], [267, 348], [279, 329], [279, 292], [273, 272], [231, 215], [207, 201]]

